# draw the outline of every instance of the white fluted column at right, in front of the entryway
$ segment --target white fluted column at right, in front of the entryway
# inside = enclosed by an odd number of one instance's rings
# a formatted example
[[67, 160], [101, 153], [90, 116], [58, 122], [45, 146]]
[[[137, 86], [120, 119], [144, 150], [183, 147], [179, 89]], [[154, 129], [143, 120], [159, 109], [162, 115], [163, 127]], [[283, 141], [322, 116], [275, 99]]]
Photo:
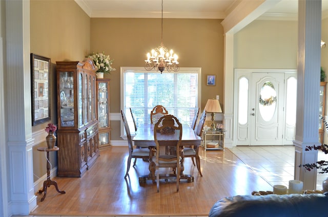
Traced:
[[318, 158], [317, 151], [305, 151], [305, 147], [319, 144], [321, 0], [298, 1], [298, 37], [294, 177], [304, 182], [304, 189], [316, 189], [317, 170], [298, 165]]

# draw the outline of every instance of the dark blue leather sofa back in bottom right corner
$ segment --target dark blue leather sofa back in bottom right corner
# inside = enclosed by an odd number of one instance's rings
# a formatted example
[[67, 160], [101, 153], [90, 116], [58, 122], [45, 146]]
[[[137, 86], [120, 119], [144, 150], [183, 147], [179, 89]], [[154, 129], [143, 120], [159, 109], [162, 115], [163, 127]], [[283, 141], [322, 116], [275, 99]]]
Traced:
[[233, 196], [216, 202], [210, 217], [323, 217], [328, 216], [328, 192]]

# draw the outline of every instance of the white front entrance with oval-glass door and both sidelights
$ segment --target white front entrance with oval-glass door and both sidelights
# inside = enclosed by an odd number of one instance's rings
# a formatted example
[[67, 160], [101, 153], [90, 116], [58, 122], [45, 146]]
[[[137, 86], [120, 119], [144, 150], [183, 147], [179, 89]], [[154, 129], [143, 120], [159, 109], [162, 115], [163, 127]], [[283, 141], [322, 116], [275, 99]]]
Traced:
[[235, 105], [236, 145], [293, 144], [296, 70], [236, 69]]

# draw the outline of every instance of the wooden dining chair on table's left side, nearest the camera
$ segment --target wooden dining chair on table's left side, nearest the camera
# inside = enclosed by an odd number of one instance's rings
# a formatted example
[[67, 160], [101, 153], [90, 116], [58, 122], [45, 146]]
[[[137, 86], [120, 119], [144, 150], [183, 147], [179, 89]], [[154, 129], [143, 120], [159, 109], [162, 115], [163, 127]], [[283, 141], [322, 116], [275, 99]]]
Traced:
[[133, 163], [133, 167], [136, 164], [136, 160], [137, 158], [141, 158], [144, 160], [149, 160], [149, 148], [136, 148], [133, 149], [133, 143], [132, 143], [132, 138], [131, 138], [131, 133], [130, 133], [130, 128], [129, 128], [129, 124], [127, 122], [127, 118], [126, 115], [124, 113], [123, 110], [121, 110], [121, 115], [122, 115], [122, 121], [124, 124], [124, 128], [125, 131], [127, 133], [127, 138], [128, 138], [128, 146], [129, 146], [129, 157], [128, 157], [128, 163], [127, 163], [127, 172], [125, 173], [124, 178], [126, 178], [128, 176], [128, 172], [130, 170], [130, 165], [131, 165], [131, 159], [134, 158], [134, 163]]

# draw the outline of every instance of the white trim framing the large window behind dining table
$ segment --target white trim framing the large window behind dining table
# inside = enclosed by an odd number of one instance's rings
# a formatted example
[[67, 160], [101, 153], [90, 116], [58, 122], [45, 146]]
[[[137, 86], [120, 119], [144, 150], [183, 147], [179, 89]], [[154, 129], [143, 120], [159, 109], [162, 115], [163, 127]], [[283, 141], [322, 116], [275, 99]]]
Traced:
[[[149, 72], [149, 73], [156, 73], [155, 70], [146, 71], [144, 67], [121, 67], [120, 68], [120, 110], [124, 107], [124, 73], [133, 71], [133, 72]], [[178, 72], [176, 73], [197, 73], [198, 74], [198, 99], [197, 104], [198, 107], [201, 105], [201, 68], [200, 67], [181, 67]], [[158, 72], [160, 73], [160, 72]], [[164, 71], [163, 73], [171, 73]], [[127, 139], [127, 136], [124, 135], [124, 125], [122, 122], [122, 118], [120, 118], [120, 137], [124, 140]]]

